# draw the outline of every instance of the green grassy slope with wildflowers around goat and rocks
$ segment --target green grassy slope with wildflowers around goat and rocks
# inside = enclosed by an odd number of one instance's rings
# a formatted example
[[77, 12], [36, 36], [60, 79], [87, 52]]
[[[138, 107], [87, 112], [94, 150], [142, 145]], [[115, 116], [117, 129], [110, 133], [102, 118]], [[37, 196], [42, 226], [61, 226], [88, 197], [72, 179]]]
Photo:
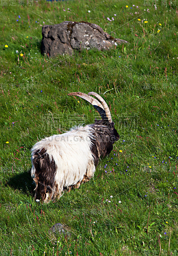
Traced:
[[[176, 4], [15, 2], [2, 7], [0, 20], [1, 255], [178, 255]], [[41, 25], [64, 20], [96, 23], [129, 44], [48, 59]], [[67, 96], [76, 91], [103, 96], [120, 140], [94, 179], [37, 204], [30, 148], [99, 117]], [[55, 223], [70, 235], [51, 236]]]

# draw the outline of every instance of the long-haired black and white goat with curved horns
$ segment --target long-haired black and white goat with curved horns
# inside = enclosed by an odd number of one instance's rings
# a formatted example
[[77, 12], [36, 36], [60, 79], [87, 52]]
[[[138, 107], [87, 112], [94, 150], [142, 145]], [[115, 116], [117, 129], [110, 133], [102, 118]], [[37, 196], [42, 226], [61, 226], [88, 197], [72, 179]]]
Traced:
[[95, 119], [94, 124], [47, 137], [32, 147], [31, 175], [36, 184], [35, 199], [44, 203], [60, 198], [65, 189], [70, 191], [72, 187], [79, 188], [81, 183], [89, 181], [99, 159], [109, 155], [114, 142], [119, 139], [109, 107], [100, 95], [96, 92], [88, 95], [72, 92], [69, 95], [87, 100], [102, 120]]

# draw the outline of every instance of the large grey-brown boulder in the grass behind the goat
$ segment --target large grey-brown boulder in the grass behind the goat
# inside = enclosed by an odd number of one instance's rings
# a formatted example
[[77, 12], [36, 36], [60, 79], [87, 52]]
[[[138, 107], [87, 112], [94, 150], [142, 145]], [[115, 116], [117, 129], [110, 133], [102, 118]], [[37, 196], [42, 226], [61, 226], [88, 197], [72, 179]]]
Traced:
[[128, 43], [110, 36], [98, 25], [84, 21], [44, 25], [42, 36], [41, 50], [48, 57], [66, 53], [72, 55], [74, 49], [109, 50], [115, 45]]

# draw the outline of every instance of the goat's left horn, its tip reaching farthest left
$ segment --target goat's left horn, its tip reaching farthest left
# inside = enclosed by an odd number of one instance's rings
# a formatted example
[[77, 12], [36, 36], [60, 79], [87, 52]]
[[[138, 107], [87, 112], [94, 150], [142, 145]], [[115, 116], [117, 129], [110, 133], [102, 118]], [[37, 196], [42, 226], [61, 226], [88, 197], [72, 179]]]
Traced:
[[68, 96], [70, 95], [74, 95], [74, 96], [78, 96], [84, 100], [87, 100], [91, 105], [93, 105], [93, 107], [96, 108], [96, 110], [98, 111], [98, 113], [100, 114], [101, 118], [104, 119], [105, 116], [106, 116], [106, 113], [105, 113], [105, 110], [104, 110], [104, 107], [103, 105], [98, 101], [96, 100], [95, 98], [83, 93], [83, 92], [71, 92], [71, 93], [68, 93]]

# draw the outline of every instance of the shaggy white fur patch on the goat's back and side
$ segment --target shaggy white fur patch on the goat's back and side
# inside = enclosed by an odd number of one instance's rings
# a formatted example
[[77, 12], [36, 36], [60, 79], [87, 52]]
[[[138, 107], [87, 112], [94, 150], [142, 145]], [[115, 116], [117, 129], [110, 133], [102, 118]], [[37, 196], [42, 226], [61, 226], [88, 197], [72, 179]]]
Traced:
[[[42, 148], [50, 159], [54, 159], [57, 170], [55, 181], [58, 184], [59, 194], [63, 187], [75, 185], [83, 179], [86, 172], [95, 172], [93, 156], [91, 154], [92, 127], [89, 125], [78, 126], [59, 135], [53, 135], [37, 142], [32, 150], [33, 154]], [[35, 168], [32, 164], [32, 177], [35, 176]]]

